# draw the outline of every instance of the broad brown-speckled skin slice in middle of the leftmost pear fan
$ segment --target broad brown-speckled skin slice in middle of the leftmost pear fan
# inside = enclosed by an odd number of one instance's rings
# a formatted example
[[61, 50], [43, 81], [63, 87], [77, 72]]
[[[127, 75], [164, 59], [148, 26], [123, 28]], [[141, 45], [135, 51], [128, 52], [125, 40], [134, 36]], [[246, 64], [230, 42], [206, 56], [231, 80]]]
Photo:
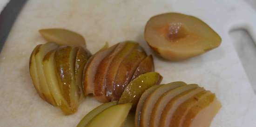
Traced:
[[78, 108], [78, 86], [75, 82], [74, 68], [75, 57], [78, 47], [62, 46], [56, 49], [54, 59], [56, 62], [55, 70], [60, 85], [61, 93], [71, 107], [72, 112]]

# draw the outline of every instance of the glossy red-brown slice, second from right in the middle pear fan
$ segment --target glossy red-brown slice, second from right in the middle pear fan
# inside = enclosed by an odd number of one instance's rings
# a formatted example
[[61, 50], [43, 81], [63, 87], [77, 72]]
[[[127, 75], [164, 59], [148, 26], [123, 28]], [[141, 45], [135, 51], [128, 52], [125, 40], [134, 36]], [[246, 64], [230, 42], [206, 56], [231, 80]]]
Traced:
[[120, 64], [114, 81], [112, 100], [119, 100], [124, 89], [130, 83], [132, 76], [141, 60], [147, 57], [142, 49], [134, 49]]

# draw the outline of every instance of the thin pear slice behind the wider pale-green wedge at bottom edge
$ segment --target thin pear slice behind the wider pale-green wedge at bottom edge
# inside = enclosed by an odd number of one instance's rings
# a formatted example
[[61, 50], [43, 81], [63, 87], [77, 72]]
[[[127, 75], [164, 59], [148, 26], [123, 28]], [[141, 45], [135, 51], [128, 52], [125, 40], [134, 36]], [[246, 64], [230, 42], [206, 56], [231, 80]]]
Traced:
[[76, 127], [85, 127], [96, 115], [100, 114], [105, 109], [114, 106], [117, 104], [117, 101], [114, 102], [108, 102], [104, 103], [96, 108], [94, 108], [92, 111], [90, 111], [88, 114], [86, 114], [83, 119], [78, 123]]

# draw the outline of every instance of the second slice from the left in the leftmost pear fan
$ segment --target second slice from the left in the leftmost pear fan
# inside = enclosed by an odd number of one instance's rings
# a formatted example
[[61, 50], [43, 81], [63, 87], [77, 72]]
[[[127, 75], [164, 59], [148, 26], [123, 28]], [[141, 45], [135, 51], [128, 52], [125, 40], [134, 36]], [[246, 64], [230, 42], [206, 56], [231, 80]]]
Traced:
[[52, 51], [58, 47], [59, 47], [58, 44], [48, 42], [46, 44], [42, 44], [39, 47], [38, 51], [35, 53], [37, 75], [39, 78], [40, 88], [42, 89], [42, 93], [45, 96], [46, 101], [54, 106], [56, 106], [56, 103], [54, 101], [54, 97], [50, 92], [48, 83], [46, 81], [46, 77], [43, 69], [43, 58], [49, 51]]

